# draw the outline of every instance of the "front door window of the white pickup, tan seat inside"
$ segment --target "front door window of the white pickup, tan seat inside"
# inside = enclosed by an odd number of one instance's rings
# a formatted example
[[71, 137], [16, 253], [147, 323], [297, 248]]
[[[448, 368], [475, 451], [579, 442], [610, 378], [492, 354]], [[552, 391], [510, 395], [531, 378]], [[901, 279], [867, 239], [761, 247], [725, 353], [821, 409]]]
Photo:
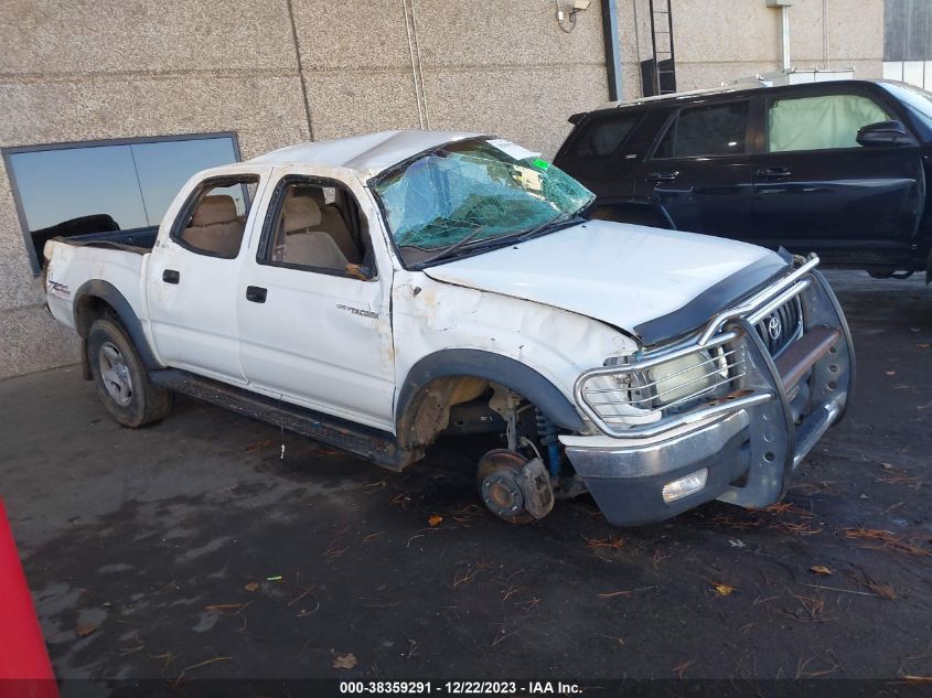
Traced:
[[336, 182], [286, 176], [266, 218], [257, 261], [371, 280], [372, 244], [353, 194]]

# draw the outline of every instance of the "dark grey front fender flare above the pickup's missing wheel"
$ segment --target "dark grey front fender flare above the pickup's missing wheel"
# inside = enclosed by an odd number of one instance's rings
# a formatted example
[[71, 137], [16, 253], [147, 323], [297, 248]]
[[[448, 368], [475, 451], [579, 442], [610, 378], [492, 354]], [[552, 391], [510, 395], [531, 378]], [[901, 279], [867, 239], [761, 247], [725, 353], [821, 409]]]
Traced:
[[[429, 397], [449, 408], [447, 400], [457, 390], [456, 379], [480, 378], [514, 390], [532, 402], [555, 425], [572, 431], [585, 430], [585, 423], [569, 399], [549, 379], [534, 368], [501, 354], [482, 350], [441, 350], [418, 361], [408, 372], [398, 393], [395, 423], [398, 441], [407, 447], [427, 445], [425, 429], [418, 425], [421, 408]], [[452, 379], [444, 382], [443, 379]], [[447, 389], [431, 390], [433, 386]], [[439, 430], [427, 429], [430, 436]]]

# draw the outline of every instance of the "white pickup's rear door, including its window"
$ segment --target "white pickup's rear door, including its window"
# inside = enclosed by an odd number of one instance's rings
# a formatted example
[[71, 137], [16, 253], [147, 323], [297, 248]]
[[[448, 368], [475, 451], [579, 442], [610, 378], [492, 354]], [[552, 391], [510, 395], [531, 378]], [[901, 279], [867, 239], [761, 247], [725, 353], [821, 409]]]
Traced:
[[237, 278], [259, 208], [250, 204], [261, 194], [266, 172], [211, 176], [165, 216], [171, 228], [149, 257], [146, 282], [152, 339], [167, 365], [226, 383], [246, 382]]

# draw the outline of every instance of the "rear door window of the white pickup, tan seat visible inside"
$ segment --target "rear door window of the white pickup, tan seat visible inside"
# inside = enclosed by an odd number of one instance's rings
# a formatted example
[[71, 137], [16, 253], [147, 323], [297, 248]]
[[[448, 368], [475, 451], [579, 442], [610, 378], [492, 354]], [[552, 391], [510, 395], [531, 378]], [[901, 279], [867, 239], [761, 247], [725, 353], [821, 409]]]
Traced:
[[203, 182], [175, 222], [172, 239], [199, 255], [235, 259], [258, 182], [255, 174]]

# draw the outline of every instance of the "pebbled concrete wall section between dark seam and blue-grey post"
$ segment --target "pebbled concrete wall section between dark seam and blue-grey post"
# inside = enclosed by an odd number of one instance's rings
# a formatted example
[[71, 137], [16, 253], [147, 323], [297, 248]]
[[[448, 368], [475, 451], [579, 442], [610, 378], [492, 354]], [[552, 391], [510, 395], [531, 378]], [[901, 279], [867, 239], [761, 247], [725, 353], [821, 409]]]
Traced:
[[567, 117], [608, 98], [597, 6], [566, 33], [548, 0], [296, 1], [314, 137], [425, 126], [553, 154]]

